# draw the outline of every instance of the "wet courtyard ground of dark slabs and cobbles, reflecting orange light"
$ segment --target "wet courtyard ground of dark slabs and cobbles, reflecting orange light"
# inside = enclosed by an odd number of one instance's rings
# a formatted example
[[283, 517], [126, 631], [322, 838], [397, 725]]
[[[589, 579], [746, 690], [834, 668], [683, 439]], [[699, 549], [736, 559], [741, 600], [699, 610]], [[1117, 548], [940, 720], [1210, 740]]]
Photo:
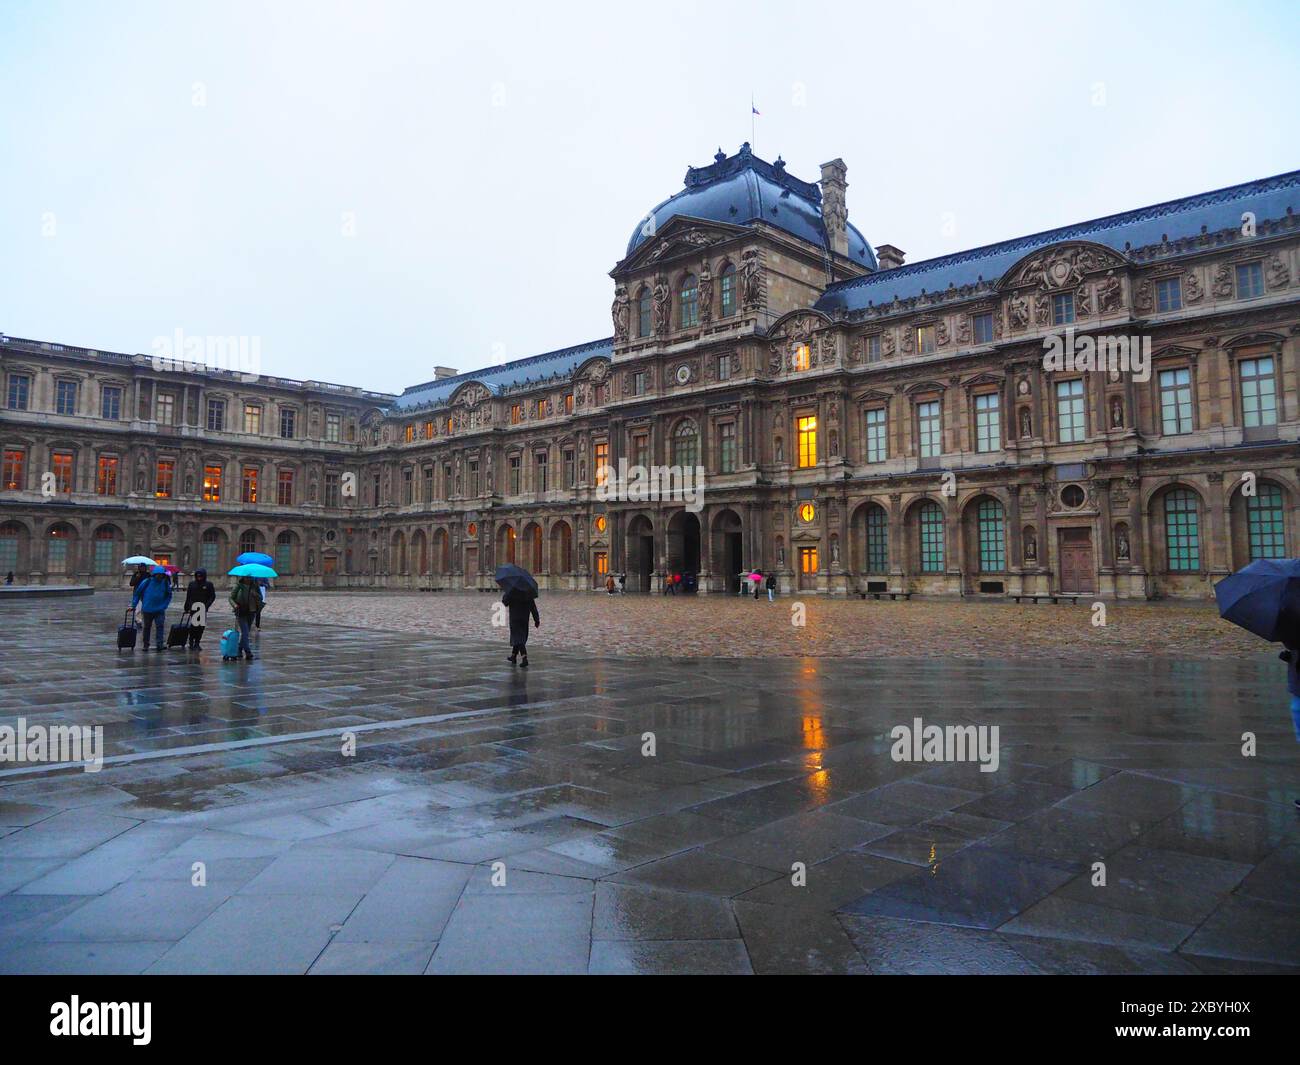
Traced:
[[[740, 603], [698, 599], [677, 638], [728, 657], [637, 657], [599, 597], [543, 596], [567, 636], [524, 671], [490, 622], [361, 598], [277, 598], [251, 663], [214, 629], [114, 651], [112, 593], [5, 606], [0, 726], [101, 727], [104, 765], [0, 765], [0, 971], [1300, 971], [1300, 744], [1262, 645], [1112, 655], [1026, 607], [1002, 655], [901, 623], [754, 654]], [[309, 601], [335, 623], [285, 616]], [[875, 606], [835, 609], [913, 605]], [[896, 761], [918, 718], [997, 726], [996, 771]]]

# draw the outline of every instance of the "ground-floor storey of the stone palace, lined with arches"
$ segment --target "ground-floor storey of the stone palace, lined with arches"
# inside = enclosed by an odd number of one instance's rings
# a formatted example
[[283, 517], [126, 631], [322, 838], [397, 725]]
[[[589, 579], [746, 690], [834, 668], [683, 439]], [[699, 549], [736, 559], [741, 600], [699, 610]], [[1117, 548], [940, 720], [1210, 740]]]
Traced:
[[1201, 597], [1257, 558], [1300, 550], [1300, 492], [1286, 471], [1188, 473], [936, 492], [736, 498], [698, 511], [601, 505], [514, 514], [402, 515], [266, 525], [150, 512], [17, 514], [0, 521], [0, 575], [18, 583], [122, 581], [143, 553], [218, 576], [243, 551], [276, 559], [285, 586], [490, 588], [515, 562], [549, 589], [594, 589], [608, 573], [656, 592], [696, 573], [736, 592], [753, 568], [783, 592], [1091, 593]]

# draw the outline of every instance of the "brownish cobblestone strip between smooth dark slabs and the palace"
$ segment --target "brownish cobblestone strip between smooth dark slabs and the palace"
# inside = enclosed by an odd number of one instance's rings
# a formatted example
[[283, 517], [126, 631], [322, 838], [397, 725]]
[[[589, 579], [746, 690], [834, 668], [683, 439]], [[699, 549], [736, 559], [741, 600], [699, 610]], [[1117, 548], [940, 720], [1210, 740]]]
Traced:
[[[304, 622], [504, 642], [493, 628], [497, 596], [474, 593], [277, 593], [270, 612]], [[1209, 603], [863, 601], [818, 596], [768, 603], [738, 596], [542, 594], [540, 648], [672, 657], [1257, 655], [1253, 636]], [[803, 625], [792, 624], [793, 605]]]

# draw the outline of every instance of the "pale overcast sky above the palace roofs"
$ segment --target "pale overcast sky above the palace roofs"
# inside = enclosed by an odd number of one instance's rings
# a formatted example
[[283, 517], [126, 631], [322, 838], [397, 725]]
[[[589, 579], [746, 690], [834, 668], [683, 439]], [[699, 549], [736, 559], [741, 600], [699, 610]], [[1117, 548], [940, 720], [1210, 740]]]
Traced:
[[604, 337], [751, 92], [909, 261], [1300, 166], [1294, 4], [836, 7], [3, 0], [0, 332], [387, 391]]

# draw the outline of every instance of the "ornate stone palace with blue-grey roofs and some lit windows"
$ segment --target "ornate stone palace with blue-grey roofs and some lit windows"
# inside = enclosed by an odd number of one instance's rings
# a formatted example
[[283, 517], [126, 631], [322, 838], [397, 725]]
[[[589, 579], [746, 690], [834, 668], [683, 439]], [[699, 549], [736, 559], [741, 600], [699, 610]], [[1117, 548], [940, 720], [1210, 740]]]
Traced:
[[[3, 337], [0, 573], [1196, 598], [1300, 554], [1300, 172], [915, 264], [846, 190], [719, 152], [611, 338], [400, 395]], [[702, 506], [611, 498], [620, 462]]]

